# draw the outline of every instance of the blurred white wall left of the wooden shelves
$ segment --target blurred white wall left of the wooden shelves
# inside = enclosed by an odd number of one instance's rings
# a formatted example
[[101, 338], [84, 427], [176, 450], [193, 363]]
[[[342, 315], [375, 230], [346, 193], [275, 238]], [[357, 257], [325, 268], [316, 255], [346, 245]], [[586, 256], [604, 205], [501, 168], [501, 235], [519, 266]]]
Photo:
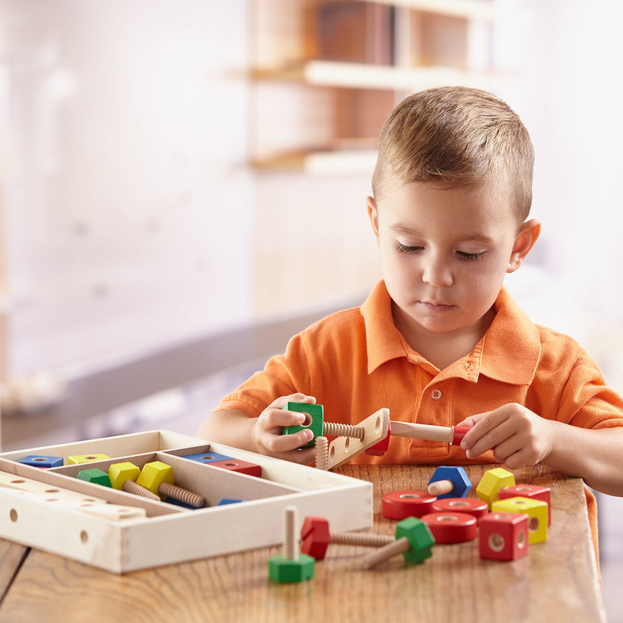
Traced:
[[252, 314], [246, 0], [4, 0], [13, 374]]

